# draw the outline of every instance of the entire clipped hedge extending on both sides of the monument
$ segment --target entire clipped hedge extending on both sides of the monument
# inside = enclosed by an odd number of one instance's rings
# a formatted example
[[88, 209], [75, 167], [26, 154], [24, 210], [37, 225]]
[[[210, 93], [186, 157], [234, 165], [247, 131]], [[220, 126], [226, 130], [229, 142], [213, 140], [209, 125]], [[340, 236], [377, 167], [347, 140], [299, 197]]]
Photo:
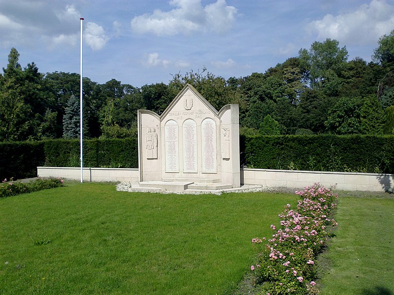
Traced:
[[[394, 173], [394, 136], [241, 136], [241, 166]], [[136, 136], [84, 141], [84, 166], [138, 168]], [[36, 176], [37, 166], [79, 167], [79, 140], [0, 143], [0, 179]]]

